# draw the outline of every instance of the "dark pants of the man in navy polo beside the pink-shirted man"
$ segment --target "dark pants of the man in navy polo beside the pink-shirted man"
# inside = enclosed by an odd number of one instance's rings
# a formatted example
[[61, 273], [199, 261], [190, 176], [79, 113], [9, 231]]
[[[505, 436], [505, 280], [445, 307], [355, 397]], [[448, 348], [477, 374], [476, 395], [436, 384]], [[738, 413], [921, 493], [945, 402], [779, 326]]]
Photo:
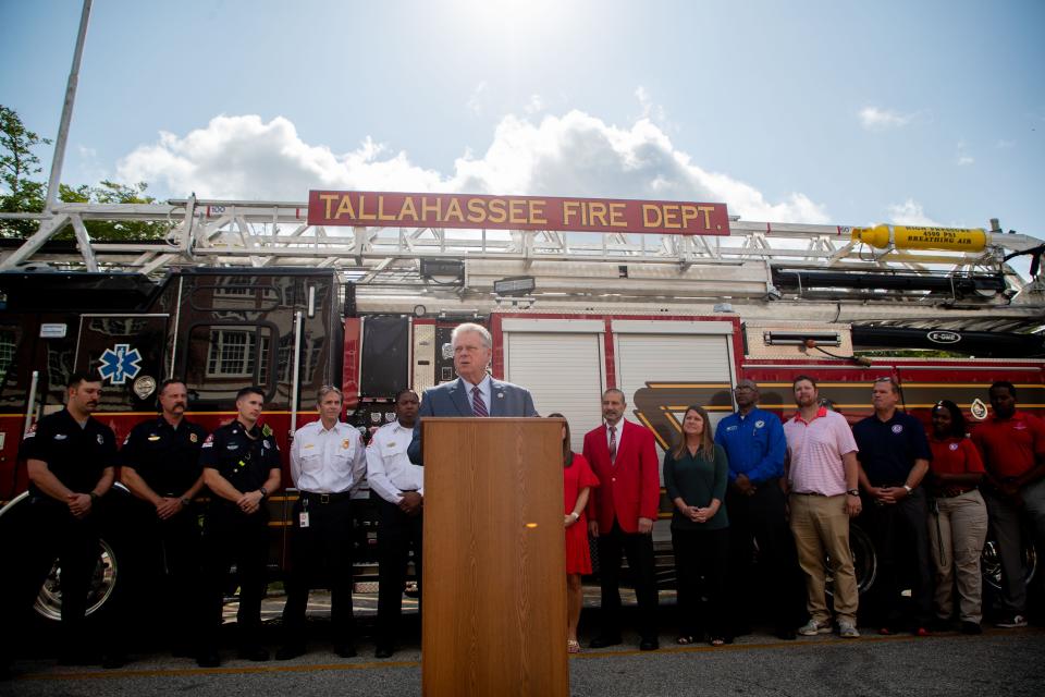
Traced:
[[[882, 626], [926, 626], [933, 615], [932, 559], [929, 551], [929, 510], [919, 488], [898, 503], [864, 506], [878, 557], [878, 577], [871, 590], [872, 611]], [[912, 584], [914, 616], [906, 617], [901, 592]]]

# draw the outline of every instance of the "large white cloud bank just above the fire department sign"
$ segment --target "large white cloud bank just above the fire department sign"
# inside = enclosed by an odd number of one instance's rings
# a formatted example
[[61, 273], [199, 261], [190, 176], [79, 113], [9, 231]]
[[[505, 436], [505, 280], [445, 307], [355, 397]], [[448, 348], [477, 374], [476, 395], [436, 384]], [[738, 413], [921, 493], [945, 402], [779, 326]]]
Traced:
[[722, 201], [749, 220], [827, 222], [823, 205], [801, 193], [771, 201], [755, 187], [710, 172], [675, 148], [649, 119], [630, 127], [581, 111], [501, 120], [485, 152], [465, 151], [442, 173], [369, 138], [351, 152], [309, 145], [280, 117], [216, 117], [184, 137], [161, 133], [119, 162], [121, 179], [174, 195], [303, 200], [309, 188], [534, 194]]

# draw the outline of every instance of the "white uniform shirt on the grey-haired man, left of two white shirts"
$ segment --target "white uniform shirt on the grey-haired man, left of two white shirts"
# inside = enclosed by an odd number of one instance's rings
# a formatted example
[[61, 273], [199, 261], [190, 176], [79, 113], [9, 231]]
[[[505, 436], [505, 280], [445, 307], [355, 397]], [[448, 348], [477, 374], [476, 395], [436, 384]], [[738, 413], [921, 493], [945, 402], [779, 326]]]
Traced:
[[307, 424], [294, 433], [291, 477], [300, 491], [344, 493], [359, 485], [367, 470], [359, 431], [337, 421], [327, 430], [322, 420]]

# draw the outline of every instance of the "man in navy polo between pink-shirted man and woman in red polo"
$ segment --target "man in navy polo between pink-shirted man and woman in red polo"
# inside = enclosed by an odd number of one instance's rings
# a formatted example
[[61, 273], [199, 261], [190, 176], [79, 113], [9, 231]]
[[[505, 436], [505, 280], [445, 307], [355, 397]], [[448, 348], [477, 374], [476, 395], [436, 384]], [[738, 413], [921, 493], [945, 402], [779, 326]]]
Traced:
[[[929, 634], [933, 616], [933, 586], [929, 554], [929, 517], [925, 492], [919, 485], [929, 472], [932, 451], [925, 429], [913, 416], [897, 411], [900, 388], [893, 378], [874, 381], [871, 402], [874, 415], [852, 428], [860, 448], [860, 486], [874, 505], [865, 506], [878, 554], [878, 579], [873, 587], [873, 607], [881, 612], [882, 634], [893, 634], [909, 625], [919, 636]], [[905, 553], [905, 541], [914, 546]], [[910, 576], [914, 583], [913, 621], [903, 621], [900, 564], [912, 558]]]

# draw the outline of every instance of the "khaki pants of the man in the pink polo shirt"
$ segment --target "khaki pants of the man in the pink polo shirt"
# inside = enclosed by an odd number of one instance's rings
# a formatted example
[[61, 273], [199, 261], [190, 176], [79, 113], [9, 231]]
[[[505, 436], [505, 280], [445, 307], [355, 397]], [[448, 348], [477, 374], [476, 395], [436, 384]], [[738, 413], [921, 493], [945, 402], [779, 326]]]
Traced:
[[831, 558], [835, 577], [835, 614], [839, 622], [856, 626], [859, 591], [849, 549], [849, 515], [846, 497], [817, 497], [792, 493], [791, 534], [798, 548], [798, 564], [806, 575], [806, 607], [817, 624], [831, 621], [824, 595], [824, 552]]

